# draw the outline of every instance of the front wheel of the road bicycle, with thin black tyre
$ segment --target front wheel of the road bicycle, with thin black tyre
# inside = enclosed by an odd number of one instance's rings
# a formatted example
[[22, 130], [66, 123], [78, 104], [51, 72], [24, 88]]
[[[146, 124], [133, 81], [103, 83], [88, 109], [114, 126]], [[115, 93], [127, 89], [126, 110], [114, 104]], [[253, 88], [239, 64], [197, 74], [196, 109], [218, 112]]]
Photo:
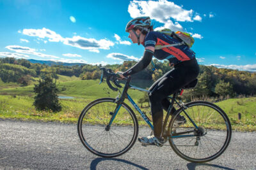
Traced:
[[77, 131], [81, 142], [100, 157], [124, 154], [138, 137], [138, 120], [125, 103], [122, 103], [108, 129], [116, 106], [113, 98], [97, 99], [84, 108], [78, 120]]

